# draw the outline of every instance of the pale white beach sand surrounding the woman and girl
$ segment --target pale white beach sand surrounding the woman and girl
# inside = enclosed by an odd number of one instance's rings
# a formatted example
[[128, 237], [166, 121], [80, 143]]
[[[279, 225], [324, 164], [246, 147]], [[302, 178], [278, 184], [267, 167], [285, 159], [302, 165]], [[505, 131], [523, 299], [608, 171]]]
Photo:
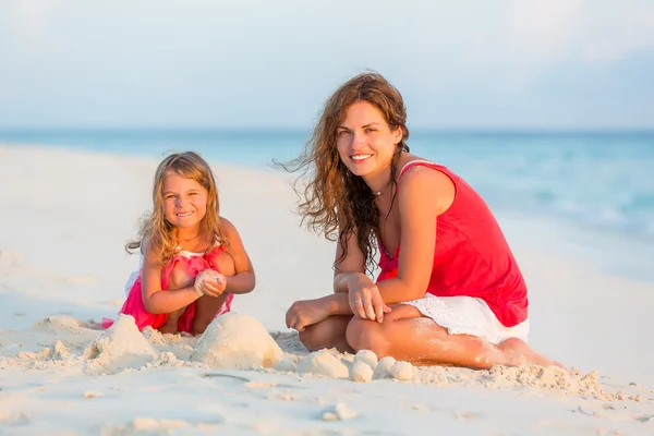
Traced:
[[214, 166], [257, 272], [233, 311], [271, 332], [277, 370], [213, 368], [191, 359], [197, 339], [138, 334], [129, 317], [85, 328], [120, 307], [137, 263], [122, 246], [157, 164], [0, 145], [0, 434], [654, 434], [654, 286], [536, 250], [516, 217], [501, 223], [530, 286], [531, 342], [579, 371], [310, 356], [283, 315], [330, 289], [334, 246], [299, 228], [272, 171]]

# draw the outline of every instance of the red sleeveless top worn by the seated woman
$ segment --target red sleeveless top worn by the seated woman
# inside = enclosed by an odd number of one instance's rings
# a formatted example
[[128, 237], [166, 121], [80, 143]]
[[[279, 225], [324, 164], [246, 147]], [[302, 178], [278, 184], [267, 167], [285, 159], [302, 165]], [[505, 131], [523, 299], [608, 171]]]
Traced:
[[[402, 174], [420, 165], [443, 172], [455, 183], [455, 201], [436, 217], [436, 252], [427, 292], [437, 296], [482, 299], [506, 327], [526, 319], [526, 284], [497, 220], [482, 197], [447, 168], [425, 160], [409, 162]], [[400, 241], [401, 243], [401, 241]], [[390, 255], [379, 242], [377, 281], [398, 274], [398, 244]]]

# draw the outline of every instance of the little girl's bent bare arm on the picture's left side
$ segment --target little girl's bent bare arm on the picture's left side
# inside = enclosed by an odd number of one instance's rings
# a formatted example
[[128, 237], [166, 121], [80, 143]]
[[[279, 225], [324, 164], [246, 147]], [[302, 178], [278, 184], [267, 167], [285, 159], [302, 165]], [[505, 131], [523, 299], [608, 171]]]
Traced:
[[144, 241], [145, 247], [143, 259], [143, 304], [145, 310], [152, 314], [172, 313], [182, 308], [201, 295], [193, 287], [178, 289], [174, 291], [161, 290], [161, 265], [157, 261], [153, 247], [148, 241]]

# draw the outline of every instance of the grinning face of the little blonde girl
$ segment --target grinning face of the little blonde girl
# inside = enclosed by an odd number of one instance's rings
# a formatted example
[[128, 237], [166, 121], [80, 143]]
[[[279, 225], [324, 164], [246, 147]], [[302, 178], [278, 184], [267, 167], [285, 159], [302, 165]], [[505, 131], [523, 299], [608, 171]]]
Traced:
[[189, 229], [199, 225], [207, 213], [208, 193], [193, 179], [169, 171], [161, 186], [164, 216], [172, 226]]

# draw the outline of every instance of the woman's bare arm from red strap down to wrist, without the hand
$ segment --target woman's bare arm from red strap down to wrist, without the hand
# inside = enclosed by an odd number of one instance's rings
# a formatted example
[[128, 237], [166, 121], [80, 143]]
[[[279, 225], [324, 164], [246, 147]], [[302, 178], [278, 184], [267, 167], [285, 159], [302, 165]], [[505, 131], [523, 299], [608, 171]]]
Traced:
[[402, 244], [398, 275], [377, 283], [387, 304], [425, 295], [436, 250], [436, 217], [455, 201], [455, 184], [440, 171], [415, 167], [403, 177], [399, 192]]

